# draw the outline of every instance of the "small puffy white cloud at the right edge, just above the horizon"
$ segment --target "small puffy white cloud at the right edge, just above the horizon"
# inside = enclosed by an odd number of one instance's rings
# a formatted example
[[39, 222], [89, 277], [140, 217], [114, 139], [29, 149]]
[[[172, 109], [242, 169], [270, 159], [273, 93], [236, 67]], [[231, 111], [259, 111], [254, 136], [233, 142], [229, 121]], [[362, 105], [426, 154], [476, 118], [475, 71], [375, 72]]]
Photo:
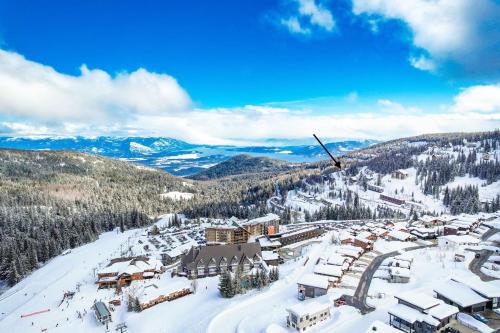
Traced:
[[500, 114], [500, 84], [464, 89], [454, 98], [454, 102], [452, 110], [455, 112]]

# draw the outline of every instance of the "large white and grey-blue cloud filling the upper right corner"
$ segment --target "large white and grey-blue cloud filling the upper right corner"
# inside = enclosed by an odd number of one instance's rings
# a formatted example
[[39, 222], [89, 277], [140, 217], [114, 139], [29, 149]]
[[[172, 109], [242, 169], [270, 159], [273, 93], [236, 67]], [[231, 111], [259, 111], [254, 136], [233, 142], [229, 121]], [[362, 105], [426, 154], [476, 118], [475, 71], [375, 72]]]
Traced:
[[500, 6], [493, 0], [352, 2], [356, 15], [406, 23], [414, 46], [431, 56], [413, 59], [419, 69], [430, 70], [432, 60], [442, 67], [459, 66], [466, 73], [499, 74]]

